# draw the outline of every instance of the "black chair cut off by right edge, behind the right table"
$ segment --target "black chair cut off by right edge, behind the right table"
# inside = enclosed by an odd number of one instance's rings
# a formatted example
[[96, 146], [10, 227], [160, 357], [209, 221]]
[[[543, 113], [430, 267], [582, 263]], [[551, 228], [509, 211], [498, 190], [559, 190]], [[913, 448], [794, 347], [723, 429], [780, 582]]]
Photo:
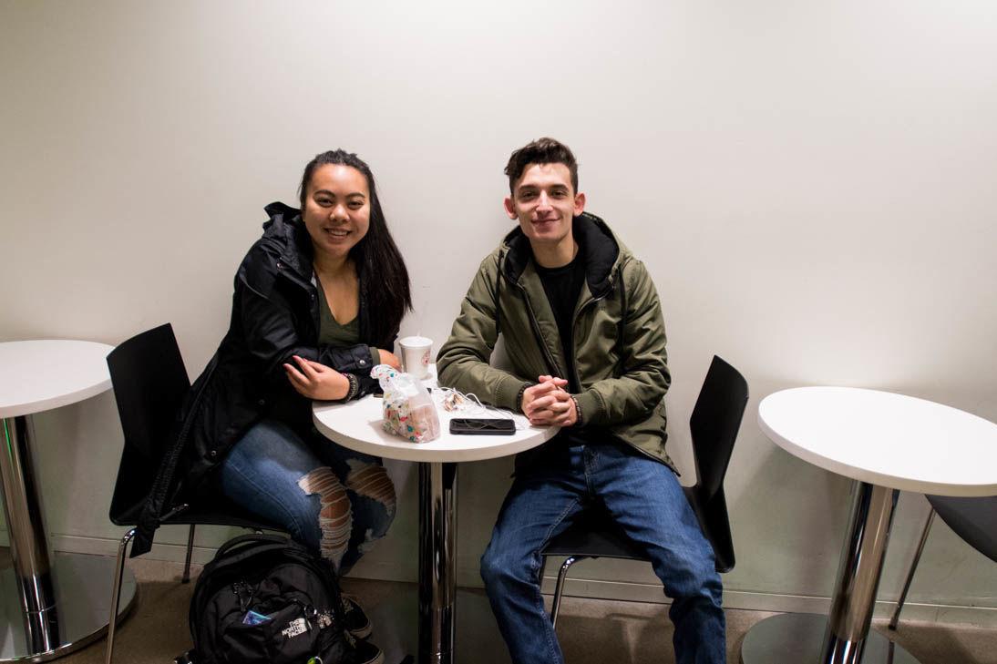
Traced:
[[917, 563], [921, 559], [921, 551], [924, 550], [924, 542], [927, 541], [928, 531], [931, 529], [931, 521], [934, 520], [935, 513], [941, 516], [941, 520], [945, 521], [945, 524], [952, 528], [955, 534], [965, 539], [966, 543], [997, 562], [997, 496], [986, 498], [926, 496], [925, 498], [931, 503], [931, 510], [924, 523], [924, 531], [921, 532], [921, 540], [917, 544], [914, 560], [910, 563], [910, 572], [903, 584], [900, 598], [896, 602], [893, 617], [889, 619], [890, 629], [896, 629], [896, 623], [900, 619], [900, 610], [903, 608], [903, 602], [907, 599], [907, 591], [914, 578]]

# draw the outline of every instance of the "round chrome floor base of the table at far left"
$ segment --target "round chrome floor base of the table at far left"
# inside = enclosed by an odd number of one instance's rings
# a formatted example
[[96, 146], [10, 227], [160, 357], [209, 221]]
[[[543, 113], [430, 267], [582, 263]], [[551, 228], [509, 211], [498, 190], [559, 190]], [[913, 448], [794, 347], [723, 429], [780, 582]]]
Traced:
[[[57, 552], [52, 556], [53, 605], [27, 613], [13, 569], [0, 571], [0, 662], [46, 662], [83, 648], [108, 630], [115, 560]], [[135, 576], [125, 572], [119, 620], [132, 609]]]

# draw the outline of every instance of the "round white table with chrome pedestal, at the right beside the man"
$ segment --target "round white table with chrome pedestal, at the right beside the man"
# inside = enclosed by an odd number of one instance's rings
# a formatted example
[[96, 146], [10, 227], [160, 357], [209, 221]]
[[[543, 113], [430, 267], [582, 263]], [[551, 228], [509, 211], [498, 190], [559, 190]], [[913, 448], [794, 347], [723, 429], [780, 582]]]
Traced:
[[916, 664], [869, 631], [896, 498], [997, 494], [997, 425], [923, 399], [838, 387], [772, 394], [758, 422], [779, 447], [856, 484], [830, 616], [763, 620], [745, 636], [742, 664]]

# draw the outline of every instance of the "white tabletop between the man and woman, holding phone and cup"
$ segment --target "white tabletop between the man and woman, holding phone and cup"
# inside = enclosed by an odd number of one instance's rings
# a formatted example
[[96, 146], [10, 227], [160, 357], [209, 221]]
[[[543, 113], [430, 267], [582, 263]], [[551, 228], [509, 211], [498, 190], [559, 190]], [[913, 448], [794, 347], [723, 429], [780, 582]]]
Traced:
[[[432, 380], [423, 381], [434, 386]], [[440, 438], [428, 443], [412, 443], [382, 426], [382, 400], [367, 396], [346, 404], [314, 402], [312, 420], [324, 436], [343, 447], [374, 457], [413, 462], [470, 462], [496, 459], [535, 448], [553, 437], [557, 427], [517, 429], [511, 436], [454, 436], [450, 433], [453, 418], [498, 418], [495, 410], [488, 413], [448, 413], [439, 406], [439, 390], [434, 387], [434, 401], [440, 416]], [[509, 415], [511, 416], [511, 415]], [[525, 422], [525, 418], [517, 418]]]

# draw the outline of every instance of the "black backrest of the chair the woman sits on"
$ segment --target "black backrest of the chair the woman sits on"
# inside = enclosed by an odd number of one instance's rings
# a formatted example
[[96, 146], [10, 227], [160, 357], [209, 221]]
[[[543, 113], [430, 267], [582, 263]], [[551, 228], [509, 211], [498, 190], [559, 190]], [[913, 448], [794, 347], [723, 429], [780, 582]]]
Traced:
[[108, 355], [125, 449], [111, 499], [111, 520], [135, 523], [156, 479], [190, 380], [171, 325], [123, 342]]

